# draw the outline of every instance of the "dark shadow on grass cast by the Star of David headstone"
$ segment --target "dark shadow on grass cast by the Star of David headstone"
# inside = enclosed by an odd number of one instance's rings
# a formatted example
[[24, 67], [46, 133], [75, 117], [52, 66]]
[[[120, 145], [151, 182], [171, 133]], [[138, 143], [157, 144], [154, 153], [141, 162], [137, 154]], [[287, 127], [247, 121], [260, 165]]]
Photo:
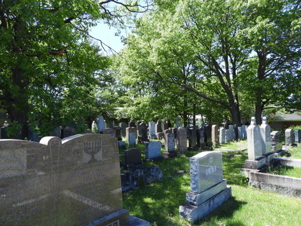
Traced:
[[[227, 226], [244, 226], [246, 224], [244, 224], [243, 221], [232, 218], [234, 212], [239, 210], [245, 204], [247, 204], [247, 202], [238, 201], [235, 199], [235, 197], [231, 196], [227, 201], [225, 201], [211, 213], [195, 222], [195, 224], [201, 225], [205, 223], [206, 225], [213, 225], [210, 221], [215, 218], [219, 222], [224, 221], [223, 223], [225, 223]], [[217, 225], [221, 225], [219, 222]]]

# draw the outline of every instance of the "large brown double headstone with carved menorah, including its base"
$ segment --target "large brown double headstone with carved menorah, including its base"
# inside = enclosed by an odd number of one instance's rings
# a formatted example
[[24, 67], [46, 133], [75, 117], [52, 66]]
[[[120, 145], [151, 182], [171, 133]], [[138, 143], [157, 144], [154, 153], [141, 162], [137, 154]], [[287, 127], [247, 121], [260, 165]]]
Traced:
[[129, 225], [116, 138], [81, 134], [0, 147], [1, 225]]

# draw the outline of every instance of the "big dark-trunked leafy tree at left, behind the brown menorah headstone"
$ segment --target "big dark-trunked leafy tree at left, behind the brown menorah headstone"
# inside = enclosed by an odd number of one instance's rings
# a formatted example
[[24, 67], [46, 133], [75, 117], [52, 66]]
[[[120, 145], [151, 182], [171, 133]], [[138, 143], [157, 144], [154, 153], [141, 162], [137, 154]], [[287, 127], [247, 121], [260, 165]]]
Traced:
[[53, 129], [86, 112], [77, 99], [107, 62], [84, 41], [89, 29], [122, 23], [123, 11], [139, 8], [134, 1], [0, 1], [0, 101], [23, 126], [18, 138], [28, 137], [29, 124], [52, 122]]

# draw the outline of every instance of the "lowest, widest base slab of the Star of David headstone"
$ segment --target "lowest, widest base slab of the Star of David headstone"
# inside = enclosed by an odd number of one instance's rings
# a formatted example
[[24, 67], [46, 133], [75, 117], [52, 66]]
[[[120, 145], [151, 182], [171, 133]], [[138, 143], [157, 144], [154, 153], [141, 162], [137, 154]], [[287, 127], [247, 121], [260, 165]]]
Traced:
[[209, 198], [199, 206], [184, 204], [179, 208], [180, 217], [186, 218], [193, 223], [198, 219], [206, 216], [208, 213], [212, 212], [223, 202], [227, 201], [231, 197], [231, 186], [227, 185], [227, 188]]

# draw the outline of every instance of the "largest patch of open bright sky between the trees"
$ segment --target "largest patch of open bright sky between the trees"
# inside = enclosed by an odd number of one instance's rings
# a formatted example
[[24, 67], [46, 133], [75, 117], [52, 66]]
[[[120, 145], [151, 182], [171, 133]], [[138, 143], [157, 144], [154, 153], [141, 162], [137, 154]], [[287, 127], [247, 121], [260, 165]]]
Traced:
[[[117, 32], [117, 29], [113, 27], [109, 28], [107, 24], [99, 23], [96, 27], [92, 28], [92, 31], [89, 32], [89, 34], [94, 38], [100, 39], [104, 44], [118, 52], [123, 48], [123, 43], [120, 40], [120, 36], [115, 36], [115, 32]], [[126, 37], [125, 31], [121, 31], [121, 35]], [[108, 51], [107, 54], [110, 55], [107, 47], [105, 47], [105, 50]]]

